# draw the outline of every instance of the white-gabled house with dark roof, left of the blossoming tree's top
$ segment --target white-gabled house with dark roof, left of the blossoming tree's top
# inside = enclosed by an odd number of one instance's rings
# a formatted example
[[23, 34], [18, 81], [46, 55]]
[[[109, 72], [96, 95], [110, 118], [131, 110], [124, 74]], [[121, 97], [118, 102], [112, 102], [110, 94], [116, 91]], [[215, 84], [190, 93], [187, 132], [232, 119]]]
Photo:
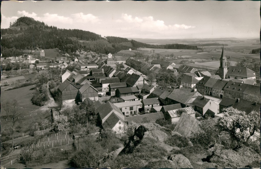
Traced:
[[[202, 116], [214, 117], [218, 113], [218, 105], [210, 99], [198, 96], [193, 102], [194, 110]], [[192, 106], [193, 107], [193, 106]]]

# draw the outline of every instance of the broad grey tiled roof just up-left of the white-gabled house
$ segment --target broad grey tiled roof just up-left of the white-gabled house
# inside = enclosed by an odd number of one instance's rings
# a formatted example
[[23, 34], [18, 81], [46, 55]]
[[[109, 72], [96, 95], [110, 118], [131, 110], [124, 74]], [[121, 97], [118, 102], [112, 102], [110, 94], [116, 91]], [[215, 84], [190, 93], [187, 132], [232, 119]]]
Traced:
[[196, 98], [197, 96], [201, 96], [201, 94], [182, 87], [180, 89], [174, 89], [167, 98], [182, 104], [188, 104], [189, 100]]

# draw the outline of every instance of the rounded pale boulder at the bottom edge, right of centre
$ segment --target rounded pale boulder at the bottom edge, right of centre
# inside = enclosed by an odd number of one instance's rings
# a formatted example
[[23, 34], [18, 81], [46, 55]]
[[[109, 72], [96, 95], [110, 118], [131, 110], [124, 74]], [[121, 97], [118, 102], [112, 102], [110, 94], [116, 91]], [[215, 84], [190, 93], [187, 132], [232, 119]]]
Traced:
[[193, 168], [190, 161], [181, 154], [171, 154], [168, 160], [172, 162], [173, 168]]

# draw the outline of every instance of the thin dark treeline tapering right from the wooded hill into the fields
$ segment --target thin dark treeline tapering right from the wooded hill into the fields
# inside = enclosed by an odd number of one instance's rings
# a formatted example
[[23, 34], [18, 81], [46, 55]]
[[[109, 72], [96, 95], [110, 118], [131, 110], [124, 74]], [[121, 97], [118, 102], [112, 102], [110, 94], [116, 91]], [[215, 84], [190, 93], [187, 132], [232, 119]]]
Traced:
[[131, 40], [132, 45], [135, 48], [138, 47], [147, 47], [147, 48], [155, 48], [155, 49], [192, 49], [192, 50], [198, 50], [197, 46], [190, 46], [190, 45], [184, 45], [184, 44], [165, 44], [165, 45], [150, 45], [141, 43], [135, 40]]

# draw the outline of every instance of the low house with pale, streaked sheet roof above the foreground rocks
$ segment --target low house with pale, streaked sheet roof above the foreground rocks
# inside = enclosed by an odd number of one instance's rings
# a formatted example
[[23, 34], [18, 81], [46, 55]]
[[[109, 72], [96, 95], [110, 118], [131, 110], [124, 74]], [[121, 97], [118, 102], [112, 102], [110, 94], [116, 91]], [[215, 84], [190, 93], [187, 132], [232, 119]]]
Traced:
[[182, 116], [182, 114], [187, 114], [189, 116], [195, 117], [196, 112], [192, 107], [184, 107], [175, 110], [169, 110], [164, 113], [164, 117], [166, 120], [171, 119], [171, 123], [177, 123]]

